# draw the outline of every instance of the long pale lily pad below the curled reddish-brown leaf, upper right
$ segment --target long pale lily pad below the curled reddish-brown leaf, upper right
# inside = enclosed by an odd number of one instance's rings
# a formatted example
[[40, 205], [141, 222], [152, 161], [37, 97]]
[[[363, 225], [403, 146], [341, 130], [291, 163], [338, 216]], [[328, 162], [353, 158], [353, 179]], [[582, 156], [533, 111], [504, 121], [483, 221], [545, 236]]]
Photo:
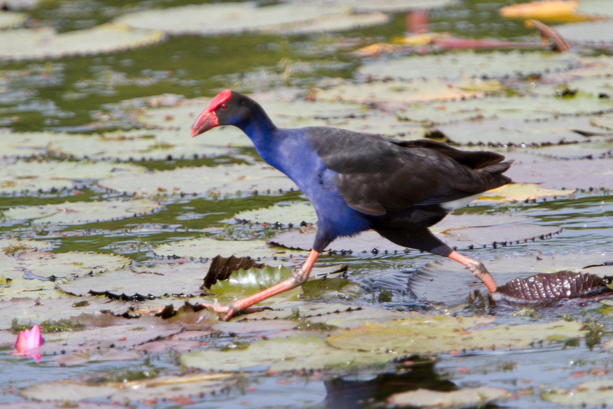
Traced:
[[[360, 67], [359, 72], [378, 79], [394, 78], [399, 80], [437, 77], [457, 79], [463, 76], [476, 78], [525, 77], [544, 71], [566, 70], [578, 63], [578, 56], [572, 53], [462, 52], [441, 55], [415, 55], [391, 61], [377, 61]], [[450, 71], [449, 67], [457, 67], [457, 69]]]

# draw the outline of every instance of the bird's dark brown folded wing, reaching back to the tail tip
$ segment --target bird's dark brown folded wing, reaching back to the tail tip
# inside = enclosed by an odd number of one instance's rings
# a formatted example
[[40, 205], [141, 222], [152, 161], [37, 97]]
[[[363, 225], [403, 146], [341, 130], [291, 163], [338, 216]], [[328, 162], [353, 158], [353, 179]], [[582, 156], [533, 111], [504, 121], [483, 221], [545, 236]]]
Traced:
[[343, 129], [310, 128], [309, 134], [324, 164], [337, 172], [343, 199], [368, 215], [462, 199], [509, 182], [501, 172], [510, 164], [498, 163], [504, 157], [496, 153]]

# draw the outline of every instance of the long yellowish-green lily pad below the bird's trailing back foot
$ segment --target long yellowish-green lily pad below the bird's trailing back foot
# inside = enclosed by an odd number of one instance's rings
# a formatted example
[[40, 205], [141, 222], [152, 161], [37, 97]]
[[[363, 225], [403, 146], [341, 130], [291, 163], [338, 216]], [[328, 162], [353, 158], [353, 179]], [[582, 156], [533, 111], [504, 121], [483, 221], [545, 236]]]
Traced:
[[[481, 329], [479, 329], [479, 327]], [[405, 354], [447, 353], [470, 348], [520, 348], [537, 341], [576, 338], [582, 324], [554, 321], [539, 324], [491, 326], [482, 317], [419, 316], [340, 330], [327, 342], [341, 350], [394, 351]]]

